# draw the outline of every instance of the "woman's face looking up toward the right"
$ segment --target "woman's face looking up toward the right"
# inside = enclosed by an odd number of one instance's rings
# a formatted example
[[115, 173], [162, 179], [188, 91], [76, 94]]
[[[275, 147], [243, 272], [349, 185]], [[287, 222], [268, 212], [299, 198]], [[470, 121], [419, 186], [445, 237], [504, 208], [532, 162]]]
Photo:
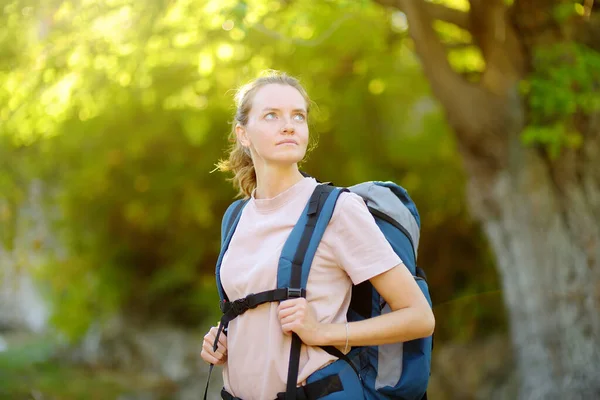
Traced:
[[254, 165], [291, 165], [304, 158], [308, 146], [306, 101], [294, 87], [269, 84], [254, 94], [246, 126], [237, 125], [240, 143]]

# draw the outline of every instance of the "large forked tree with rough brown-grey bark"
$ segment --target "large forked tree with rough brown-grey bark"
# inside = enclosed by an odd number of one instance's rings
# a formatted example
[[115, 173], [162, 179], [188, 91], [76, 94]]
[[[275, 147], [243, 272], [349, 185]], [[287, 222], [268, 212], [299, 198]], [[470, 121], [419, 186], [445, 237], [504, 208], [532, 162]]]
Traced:
[[[521, 144], [528, 110], [518, 92], [536, 47], [575, 40], [600, 49], [594, 2], [584, 1], [584, 16], [567, 29], [552, 18], [561, 0], [470, 0], [468, 13], [424, 0], [376, 2], [406, 14], [457, 135], [470, 208], [502, 276], [521, 398], [600, 398], [600, 115], [579, 122], [582, 148], [551, 160]], [[470, 31], [486, 64], [477, 83], [452, 69], [434, 19]]]

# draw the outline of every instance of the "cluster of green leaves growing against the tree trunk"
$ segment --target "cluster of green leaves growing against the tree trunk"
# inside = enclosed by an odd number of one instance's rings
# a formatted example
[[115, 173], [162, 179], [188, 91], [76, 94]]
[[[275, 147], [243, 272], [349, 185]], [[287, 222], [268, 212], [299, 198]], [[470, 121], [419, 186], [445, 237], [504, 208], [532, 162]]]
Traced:
[[552, 158], [564, 147], [579, 147], [575, 117], [600, 111], [599, 87], [598, 52], [578, 43], [538, 49], [533, 73], [522, 84], [531, 111], [524, 143], [543, 145]]

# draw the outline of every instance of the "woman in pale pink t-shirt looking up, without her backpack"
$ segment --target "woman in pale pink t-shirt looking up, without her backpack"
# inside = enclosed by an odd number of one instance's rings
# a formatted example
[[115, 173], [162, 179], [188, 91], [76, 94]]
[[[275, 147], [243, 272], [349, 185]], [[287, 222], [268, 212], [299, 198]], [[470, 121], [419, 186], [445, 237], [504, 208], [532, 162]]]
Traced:
[[[272, 72], [240, 89], [229, 159], [218, 165], [250, 198], [221, 264], [230, 300], [276, 287], [282, 246], [317, 182], [298, 163], [309, 146], [310, 99], [295, 79]], [[347, 323], [352, 284], [370, 280], [393, 312]], [[342, 193], [317, 249], [307, 298], [266, 303], [204, 337], [201, 356], [224, 365], [225, 390], [244, 400], [275, 399], [286, 388], [292, 333], [303, 346], [298, 385], [337, 358], [319, 346], [405, 342], [430, 336], [434, 317], [402, 260], [376, 226], [364, 201]], [[363, 398], [362, 393], [354, 393]], [[329, 397], [329, 396], [327, 396]], [[350, 398], [350, 397], [347, 397]]]

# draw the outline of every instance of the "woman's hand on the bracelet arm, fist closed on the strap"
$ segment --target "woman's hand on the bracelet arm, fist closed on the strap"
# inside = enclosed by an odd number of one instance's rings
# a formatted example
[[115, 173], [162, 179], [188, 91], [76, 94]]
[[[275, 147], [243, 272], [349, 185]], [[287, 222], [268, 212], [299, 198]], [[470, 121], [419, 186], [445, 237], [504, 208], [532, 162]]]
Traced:
[[305, 298], [285, 300], [279, 303], [279, 322], [283, 333], [296, 333], [309, 346], [317, 346], [322, 341], [322, 325]]

